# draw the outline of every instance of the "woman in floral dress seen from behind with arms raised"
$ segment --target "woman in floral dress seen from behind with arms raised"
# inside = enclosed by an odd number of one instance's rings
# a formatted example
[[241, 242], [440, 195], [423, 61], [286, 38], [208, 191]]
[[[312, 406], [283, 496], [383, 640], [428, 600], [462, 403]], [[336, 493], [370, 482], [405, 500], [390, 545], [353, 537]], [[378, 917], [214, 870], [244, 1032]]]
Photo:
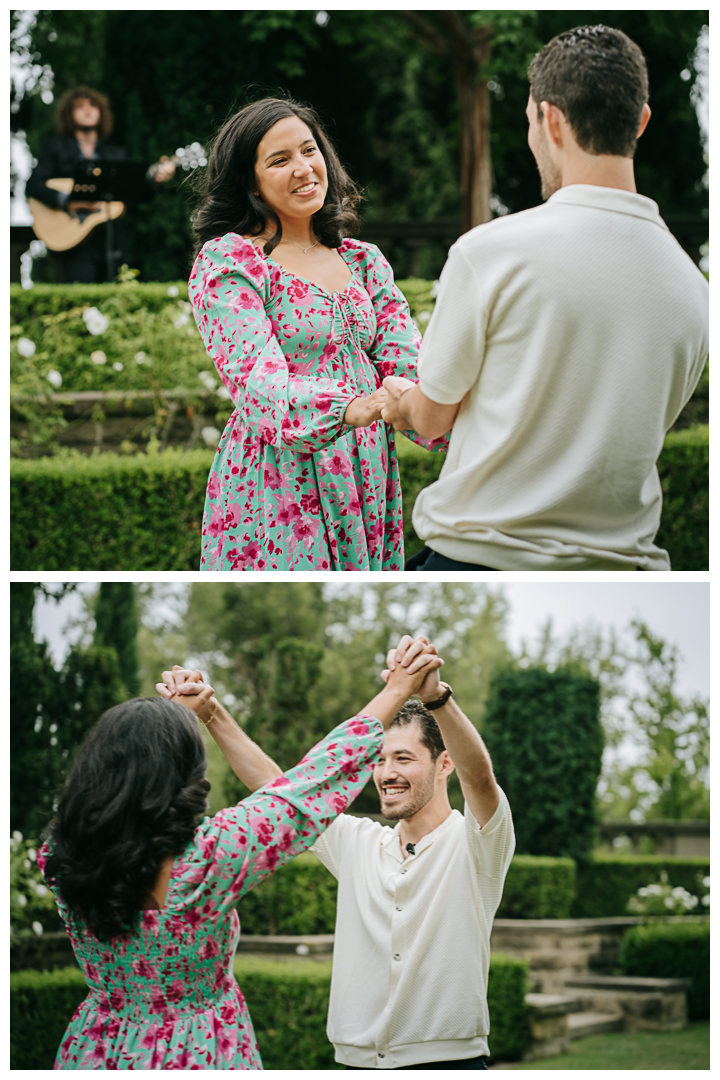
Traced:
[[[235, 905], [363, 789], [383, 728], [443, 663], [426, 638], [407, 657], [362, 713], [287, 773], [200, 672], [163, 672], [161, 699], [100, 717], [38, 852], [90, 987], [55, 1068], [262, 1068], [232, 971]], [[203, 816], [209, 784], [193, 713], [254, 793], [213, 818]]]

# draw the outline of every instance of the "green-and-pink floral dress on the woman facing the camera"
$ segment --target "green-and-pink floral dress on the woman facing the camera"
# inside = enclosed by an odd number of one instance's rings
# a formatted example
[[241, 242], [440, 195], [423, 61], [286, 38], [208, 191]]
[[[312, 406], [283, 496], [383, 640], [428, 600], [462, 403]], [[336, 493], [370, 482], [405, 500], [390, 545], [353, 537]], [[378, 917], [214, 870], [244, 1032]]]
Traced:
[[195, 260], [190, 300], [235, 406], [207, 484], [202, 570], [403, 569], [393, 432], [343, 417], [388, 375], [417, 381], [420, 334], [379, 249], [338, 251], [352, 273], [338, 293], [233, 232]]

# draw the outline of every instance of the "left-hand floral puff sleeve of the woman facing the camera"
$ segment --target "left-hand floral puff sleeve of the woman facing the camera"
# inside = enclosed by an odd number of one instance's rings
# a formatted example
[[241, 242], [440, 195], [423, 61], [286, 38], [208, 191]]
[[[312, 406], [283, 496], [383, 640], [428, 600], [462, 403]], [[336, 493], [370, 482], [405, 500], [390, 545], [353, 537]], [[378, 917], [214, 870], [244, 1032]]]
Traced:
[[348, 382], [293, 375], [266, 311], [270, 269], [236, 233], [208, 241], [188, 285], [195, 322], [241, 419], [264, 443], [313, 453], [345, 433]]

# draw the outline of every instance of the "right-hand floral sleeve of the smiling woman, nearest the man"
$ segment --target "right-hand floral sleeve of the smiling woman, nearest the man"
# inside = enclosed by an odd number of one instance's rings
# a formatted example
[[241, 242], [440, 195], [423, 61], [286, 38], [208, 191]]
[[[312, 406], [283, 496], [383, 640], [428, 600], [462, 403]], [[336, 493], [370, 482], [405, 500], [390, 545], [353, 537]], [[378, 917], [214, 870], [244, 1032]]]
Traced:
[[[372, 300], [378, 329], [368, 355], [375, 363], [380, 378], [399, 375], [418, 381], [418, 352], [422, 338], [410, 314], [410, 306], [395, 284], [392, 268], [379, 247], [365, 244], [366, 259], [363, 268], [365, 287]], [[426, 450], [447, 450], [448, 436], [424, 438], [415, 431], [403, 434]]]

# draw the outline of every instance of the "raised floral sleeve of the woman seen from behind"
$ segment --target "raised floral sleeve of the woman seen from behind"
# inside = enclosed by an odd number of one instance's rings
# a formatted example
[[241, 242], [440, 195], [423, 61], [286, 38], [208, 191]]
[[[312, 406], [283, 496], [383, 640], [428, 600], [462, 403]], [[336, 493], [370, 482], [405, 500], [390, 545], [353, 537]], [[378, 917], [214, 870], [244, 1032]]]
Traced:
[[[279, 866], [312, 847], [362, 792], [382, 751], [379, 720], [358, 715], [300, 764], [237, 806], [206, 818], [173, 872], [175, 906], [225, 912]], [[180, 896], [182, 899], [180, 899]]]

